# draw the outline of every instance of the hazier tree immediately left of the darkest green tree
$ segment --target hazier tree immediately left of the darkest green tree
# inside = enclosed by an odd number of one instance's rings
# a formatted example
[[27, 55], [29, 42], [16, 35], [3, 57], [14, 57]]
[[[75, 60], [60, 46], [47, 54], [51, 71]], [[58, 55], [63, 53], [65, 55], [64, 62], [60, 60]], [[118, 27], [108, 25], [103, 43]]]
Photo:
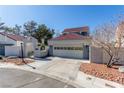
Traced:
[[35, 21], [28, 21], [24, 23], [23, 28], [24, 28], [24, 32], [23, 32], [24, 35], [33, 36], [33, 34], [37, 30], [37, 23]]

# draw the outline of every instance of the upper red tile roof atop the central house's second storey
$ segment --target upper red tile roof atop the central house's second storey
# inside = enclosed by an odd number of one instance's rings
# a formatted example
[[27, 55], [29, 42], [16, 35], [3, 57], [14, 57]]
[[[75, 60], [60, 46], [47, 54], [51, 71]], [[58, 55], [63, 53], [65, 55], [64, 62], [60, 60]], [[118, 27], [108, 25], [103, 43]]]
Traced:
[[89, 27], [88, 26], [84, 26], [84, 27], [77, 27], [77, 28], [67, 28], [67, 29], [64, 29], [63, 32], [80, 32], [80, 31], [88, 32], [89, 31]]

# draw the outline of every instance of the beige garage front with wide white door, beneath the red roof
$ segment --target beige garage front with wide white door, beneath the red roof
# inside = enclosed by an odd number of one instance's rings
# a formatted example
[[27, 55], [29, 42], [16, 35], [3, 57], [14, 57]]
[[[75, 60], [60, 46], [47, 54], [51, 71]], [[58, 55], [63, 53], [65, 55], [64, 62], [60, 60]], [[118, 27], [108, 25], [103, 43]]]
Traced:
[[90, 42], [82, 40], [49, 41], [52, 56], [89, 59]]

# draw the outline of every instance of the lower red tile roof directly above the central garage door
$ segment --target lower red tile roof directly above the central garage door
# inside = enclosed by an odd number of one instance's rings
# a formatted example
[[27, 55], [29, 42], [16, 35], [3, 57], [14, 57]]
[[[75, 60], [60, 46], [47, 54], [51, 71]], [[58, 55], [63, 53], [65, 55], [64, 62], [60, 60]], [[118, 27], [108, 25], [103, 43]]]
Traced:
[[75, 33], [70, 33], [70, 34], [66, 34], [66, 35], [61, 35], [59, 37], [55, 37], [51, 40], [83, 40], [83, 39], [91, 39], [90, 36], [82, 36], [79, 34], [75, 34]]

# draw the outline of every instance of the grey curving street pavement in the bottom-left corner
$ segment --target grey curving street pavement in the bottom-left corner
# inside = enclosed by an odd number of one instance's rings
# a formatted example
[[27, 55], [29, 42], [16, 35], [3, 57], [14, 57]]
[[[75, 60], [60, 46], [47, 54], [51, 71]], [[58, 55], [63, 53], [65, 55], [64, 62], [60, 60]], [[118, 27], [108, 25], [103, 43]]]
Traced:
[[73, 88], [53, 78], [20, 69], [0, 68], [1, 88]]

